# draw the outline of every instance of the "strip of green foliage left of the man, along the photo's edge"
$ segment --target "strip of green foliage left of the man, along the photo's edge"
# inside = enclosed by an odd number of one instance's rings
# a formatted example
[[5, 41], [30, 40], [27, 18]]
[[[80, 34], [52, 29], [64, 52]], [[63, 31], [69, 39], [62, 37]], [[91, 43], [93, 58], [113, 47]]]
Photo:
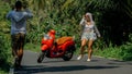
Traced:
[[7, 12], [11, 10], [7, 2], [0, 0], [0, 73], [7, 74], [11, 65], [10, 23], [7, 22]]

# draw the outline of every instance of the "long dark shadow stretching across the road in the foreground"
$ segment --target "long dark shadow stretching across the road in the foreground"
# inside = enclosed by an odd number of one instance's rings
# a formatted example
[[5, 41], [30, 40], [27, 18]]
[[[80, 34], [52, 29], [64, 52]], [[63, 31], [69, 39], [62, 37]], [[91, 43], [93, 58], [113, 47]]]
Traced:
[[86, 66], [86, 65], [68, 65], [68, 66], [44, 66], [44, 65], [24, 65], [21, 70], [14, 72], [14, 74], [33, 74], [43, 72], [70, 72], [81, 70], [102, 70], [102, 69], [116, 69], [119, 66]]

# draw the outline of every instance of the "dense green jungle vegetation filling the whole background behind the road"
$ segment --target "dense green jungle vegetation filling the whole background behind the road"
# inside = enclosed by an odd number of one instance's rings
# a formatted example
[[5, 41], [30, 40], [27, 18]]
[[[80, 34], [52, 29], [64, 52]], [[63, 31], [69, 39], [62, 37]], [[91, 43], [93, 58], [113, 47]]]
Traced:
[[[7, 13], [15, 0], [0, 0], [0, 71], [11, 64], [10, 22]], [[79, 22], [86, 12], [92, 13], [101, 38], [95, 42], [95, 54], [132, 61], [132, 0], [22, 0], [34, 17], [28, 21], [26, 44], [40, 46], [51, 28], [62, 36], [75, 36], [80, 46]], [[33, 46], [31, 46], [33, 47]], [[34, 49], [34, 48], [30, 48]], [[38, 50], [38, 49], [36, 49]]]

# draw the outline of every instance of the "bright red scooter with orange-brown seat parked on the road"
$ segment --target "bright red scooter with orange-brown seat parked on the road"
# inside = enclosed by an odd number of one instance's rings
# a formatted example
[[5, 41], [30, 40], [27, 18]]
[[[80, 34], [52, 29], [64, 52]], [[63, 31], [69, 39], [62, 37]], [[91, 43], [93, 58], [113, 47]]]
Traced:
[[41, 63], [45, 57], [62, 58], [64, 61], [69, 61], [76, 50], [73, 37], [61, 37], [55, 41], [54, 29], [44, 35], [41, 44], [41, 53], [37, 58], [37, 63]]

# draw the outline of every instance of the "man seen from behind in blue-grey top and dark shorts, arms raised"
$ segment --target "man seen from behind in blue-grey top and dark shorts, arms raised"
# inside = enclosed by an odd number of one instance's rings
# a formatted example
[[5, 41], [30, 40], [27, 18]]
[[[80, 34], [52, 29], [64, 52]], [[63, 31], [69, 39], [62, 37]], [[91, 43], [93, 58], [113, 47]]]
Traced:
[[26, 20], [31, 17], [33, 17], [33, 14], [25, 7], [23, 8], [21, 1], [16, 1], [14, 10], [7, 14], [7, 18], [11, 21], [11, 45], [12, 54], [15, 59], [15, 67], [21, 66], [26, 34]]

